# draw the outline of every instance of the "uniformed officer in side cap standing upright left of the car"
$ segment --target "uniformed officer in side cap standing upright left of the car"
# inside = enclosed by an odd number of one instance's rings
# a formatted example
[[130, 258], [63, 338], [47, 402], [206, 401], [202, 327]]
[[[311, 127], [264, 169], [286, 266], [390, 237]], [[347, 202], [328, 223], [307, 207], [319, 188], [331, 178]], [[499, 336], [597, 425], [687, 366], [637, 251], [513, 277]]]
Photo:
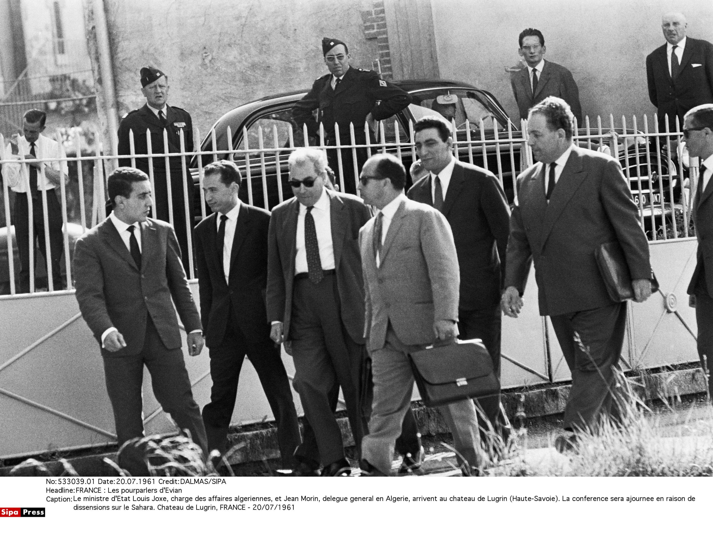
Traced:
[[[183, 108], [169, 106], [168, 76], [153, 67], [143, 67], [140, 71], [141, 93], [146, 98], [146, 104], [125, 115], [119, 125], [120, 155], [131, 153], [129, 131], [133, 130], [133, 140], [136, 154], [148, 154], [146, 130], [151, 132], [151, 152], [180, 152], [180, 132], [183, 130], [185, 151], [193, 151], [193, 124]], [[163, 148], [163, 130], [168, 130], [168, 150]], [[193, 232], [193, 179], [188, 170], [190, 157], [185, 165], [185, 178], [188, 182], [188, 222]], [[130, 158], [119, 160], [121, 167], [131, 167]], [[136, 158], [136, 167], [147, 175], [148, 158]], [[180, 245], [181, 259], [188, 279], [195, 277], [188, 268], [188, 234], [186, 232], [185, 202], [183, 199], [183, 167], [180, 156], [170, 157], [170, 168], [166, 171], [166, 161], [163, 157], [153, 158], [153, 182], [155, 187], [154, 204], [156, 217], [162, 221], [171, 222], [168, 211], [168, 174], [170, 174], [171, 202], [173, 204], [173, 229]]]

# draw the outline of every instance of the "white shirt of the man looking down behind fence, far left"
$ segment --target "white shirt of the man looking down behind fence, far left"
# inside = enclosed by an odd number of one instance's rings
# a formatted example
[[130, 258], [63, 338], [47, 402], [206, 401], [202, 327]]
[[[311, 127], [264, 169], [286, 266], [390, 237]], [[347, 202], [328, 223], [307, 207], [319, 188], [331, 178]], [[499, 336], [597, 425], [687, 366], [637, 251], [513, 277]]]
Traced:
[[[10, 160], [22, 160], [25, 155], [30, 153], [31, 143], [21, 135], [17, 138], [17, 154], [12, 153], [11, 143], [7, 144], [5, 149], [5, 159]], [[58, 158], [59, 155], [59, 145], [56, 141], [50, 138], [40, 135], [35, 141], [35, 157], [38, 160], [43, 160], [44, 158]], [[26, 167], [22, 167], [22, 166]], [[60, 162], [55, 160], [53, 162], [45, 162], [46, 167], [51, 167], [53, 170], [62, 170], [64, 175], [68, 175], [69, 170], [67, 168], [67, 162]], [[30, 175], [29, 175], [29, 164], [19, 164], [19, 163], [7, 163], [2, 166], [2, 175], [7, 185], [15, 192], [28, 192], [30, 189]], [[37, 185], [39, 190], [52, 190], [59, 185], [55, 185], [47, 177], [42, 178], [42, 170], [37, 170]]]

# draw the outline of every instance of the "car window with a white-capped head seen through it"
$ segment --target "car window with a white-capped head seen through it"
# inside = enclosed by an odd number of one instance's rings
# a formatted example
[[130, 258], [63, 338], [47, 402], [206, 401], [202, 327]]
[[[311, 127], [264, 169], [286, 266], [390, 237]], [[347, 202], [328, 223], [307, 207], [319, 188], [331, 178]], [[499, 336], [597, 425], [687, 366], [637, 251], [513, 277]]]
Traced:
[[493, 108], [492, 101], [485, 93], [475, 90], [438, 88], [424, 91], [411, 91], [409, 110], [414, 120], [424, 116], [436, 116], [449, 124], [455, 120], [458, 130], [466, 129], [466, 120], [471, 130], [493, 129], [493, 120], [498, 131], [503, 130], [502, 115]]

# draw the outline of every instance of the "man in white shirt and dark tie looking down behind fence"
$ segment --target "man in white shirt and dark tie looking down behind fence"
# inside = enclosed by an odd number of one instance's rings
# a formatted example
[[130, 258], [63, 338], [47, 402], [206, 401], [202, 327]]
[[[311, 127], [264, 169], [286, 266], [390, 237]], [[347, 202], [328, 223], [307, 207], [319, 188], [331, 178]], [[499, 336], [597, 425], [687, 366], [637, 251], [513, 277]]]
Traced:
[[[19, 293], [29, 293], [31, 287], [36, 289], [36, 283], [30, 283], [30, 254], [34, 255], [36, 264], [36, 249], [45, 258], [46, 264], [51, 264], [52, 281], [48, 278], [48, 288], [54, 291], [63, 289], [60, 273], [60, 259], [63, 252], [62, 210], [59, 189], [61, 182], [60, 170], [67, 175], [66, 162], [59, 158], [59, 145], [56, 141], [42, 135], [45, 129], [46, 113], [41, 110], [28, 110], [22, 118], [24, 135], [13, 135], [8, 143], [5, 157], [16, 160], [31, 160], [26, 164], [7, 163], [3, 165], [3, 177], [14, 192], [15, 210], [14, 224], [17, 247], [20, 254], [20, 286]], [[44, 159], [53, 160], [44, 162]], [[47, 226], [49, 229], [49, 254], [45, 242], [45, 224], [43, 214], [43, 190], [47, 197]], [[32, 242], [30, 242], [30, 208], [32, 204]], [[32, 248], [32, 249], [31, 249]], [[49, 272], [50, 269], [48, 268]]]

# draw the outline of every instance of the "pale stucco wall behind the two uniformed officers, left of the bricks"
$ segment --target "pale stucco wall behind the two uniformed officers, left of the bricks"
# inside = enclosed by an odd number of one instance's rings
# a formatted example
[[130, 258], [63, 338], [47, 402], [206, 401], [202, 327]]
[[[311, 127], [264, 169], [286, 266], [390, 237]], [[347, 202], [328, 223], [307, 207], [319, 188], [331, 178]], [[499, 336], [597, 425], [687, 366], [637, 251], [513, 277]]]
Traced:
[[119, 115], [139, 108], [138, 71], [169, 76], [168, 102], [202, 135], [227, 110], [265, 95], [312, 86], [327, 73], [322, 37], [342, 38], [354, 66], [371, 68], [364, 38], [371, 0], [106, 0]]

